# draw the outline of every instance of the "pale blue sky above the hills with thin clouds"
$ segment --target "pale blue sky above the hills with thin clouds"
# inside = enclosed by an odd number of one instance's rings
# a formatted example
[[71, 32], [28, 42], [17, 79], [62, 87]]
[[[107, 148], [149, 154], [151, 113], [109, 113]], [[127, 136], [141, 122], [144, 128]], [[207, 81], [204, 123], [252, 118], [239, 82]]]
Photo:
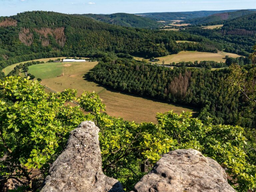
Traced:
[[43, 10], [69, 14], [256, 9], [256, 0], [0, 0], [0, 16]]

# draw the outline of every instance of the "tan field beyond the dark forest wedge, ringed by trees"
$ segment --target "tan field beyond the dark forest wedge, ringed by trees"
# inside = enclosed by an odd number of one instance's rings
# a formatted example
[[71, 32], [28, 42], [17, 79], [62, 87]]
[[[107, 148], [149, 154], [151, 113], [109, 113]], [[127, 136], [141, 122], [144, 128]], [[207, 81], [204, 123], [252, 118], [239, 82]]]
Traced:
[[[208, 52], [198, 52], [198, 51], [181, 51], [178, 54], [167, 55], [164, 57], [157, 57], [160, 61], [156, 62], [157, 64], [162, 64], [162, 61], [165, 61], [165, 64], [170, 64], [172, 62], [194, 62], [194, 61], [216, 61], [216, 62], [225, 62], [225, 56], [229, 57], [240, 57], [240, 55], [234, 53], [226, 53], [224, 51], [219, 51], [218, 53], [208, 53]], [[136, 60], [142, 60], [140, 57], [134, 57]]]

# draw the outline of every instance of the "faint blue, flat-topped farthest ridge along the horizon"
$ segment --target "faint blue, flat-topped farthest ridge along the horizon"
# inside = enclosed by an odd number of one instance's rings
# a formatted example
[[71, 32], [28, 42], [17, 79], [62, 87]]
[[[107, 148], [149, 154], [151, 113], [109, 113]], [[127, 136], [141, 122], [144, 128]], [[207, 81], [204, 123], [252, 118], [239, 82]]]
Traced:
[[[250, 9], [256, 11], [256, 9]], [[222, 10], [222, 11], [189, 11], [189, 12], [163, 12], [163, 13], [138, 13], [142, 17], [147, 17], [155, 20], [188, 20], [199, 17], [207, 17], [217, 13], [235, 12], [238, 10]]]

